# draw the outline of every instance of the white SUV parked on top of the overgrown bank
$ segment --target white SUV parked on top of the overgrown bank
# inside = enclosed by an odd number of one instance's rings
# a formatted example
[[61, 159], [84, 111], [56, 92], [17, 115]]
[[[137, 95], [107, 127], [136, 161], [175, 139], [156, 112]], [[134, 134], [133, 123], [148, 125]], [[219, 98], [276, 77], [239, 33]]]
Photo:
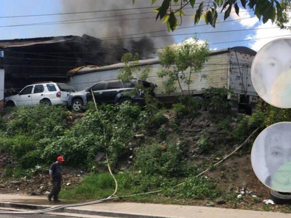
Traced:
[[67, 105], [70, 93], [76, 92], [65, 83], [43, 82], [24, 87], [18, 94], [5, 98], [6, 106]]

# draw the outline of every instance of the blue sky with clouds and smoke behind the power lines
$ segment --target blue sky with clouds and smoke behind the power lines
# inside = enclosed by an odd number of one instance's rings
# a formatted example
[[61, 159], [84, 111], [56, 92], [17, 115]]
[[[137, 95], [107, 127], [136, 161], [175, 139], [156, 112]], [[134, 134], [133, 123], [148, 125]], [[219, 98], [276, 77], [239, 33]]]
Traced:
[[[118, 2], [118, 4], [116, 3]], [[56, 15], [56, 16], [32, 16], [32, 17], [13, 17], [4, 18], [3, 16], [21, 16], [21, 15], [40, 15], [40, 14], [54, 14], [54, 13], [68, 13], [68, 12], [83, 12], [83, 11], [100, 11], [100, 10], [113, 10], [124, 8], [136, 8], [136, 7], [149, 7], [151, 6], [151, 0], [136, 0], [136, 4], [132, 5], [132, 0], [0, 0], [0, 40], [15, 39], [15, 38], [33, 38], [33, 37], [46, 37], [46, 36], [60, 36], [60, 35], [82, 35], [90, 34], [98, 38], [132, 34], [132, 33], [145, 33], [148, 31], [160, 31], [166, 30], [166, 25], [161, 21], [156, 21], [155, 18], [149, 18], [156, 16], [151, 12], [153, 9], [139, 9], [139, 10], [122, 10], [114, 12], [97, 12], [97, 13], [85, 13], [85, 14], [70, 14], [70, 15]], [[155, 5], [159, 5], [161, 0], [158, 0]], [[242, 12], [245, 11], [245, 12]], [[130, 16], [115, 16], [104, 18], [104, 16], [114, 16], [121, 14], [136, 14]], [[156, 32], [152, 34], [146, 34], [151, 36], [151, 39], [155, 43], [155, 47], [164, 47], [172, 43], [179, 43], [186, 38], [193, 36], [195, 33], [197, 37], [202, 40], [208, 40], [210, 43], [210, 49], [223, 49], [234, 46], [246, 46], [258, 51], [264, 44], [274, 40], [282, 35], [291, 34], [291, 31], [280, 30], [271, 21], [266, 24], [262, 24], [257, 17], [247, 18], [254, 16], [253, 12], [241, 9], [240, 16], [237, 16], [234, 12], [230, 13], [230, 17], [225, 23], [217, 23], [216, 28], [208, 26], [195, 26], [194, 27], [194, 10], [186, 9], [185, 16], [182, 19], [182, 24], [173, 33], [167, 31]], [[222, 22], [223, 15], [219, 15], [217, 22]], [[40, 23], [40, 22], [55, 22], [61, 20], [71, 19], [84, 19], [101, 17], [98, 19], [91, 19], [90, 21], [101, 20], [101, 22], [91, 23], [73, 23], [62, 25], [41, 25], [41, 26], [18, 26], [18, 27], [3, 27], [8, 25]], [[140, 18], [123, 20], [127, 18]], [[242, 19], [243, 18], [243, 19]], [[104, 21], [114, 19], [114, 21]], [[233, 19], [241, 19], [237, 21], [230, 21]], [[102, 21], [103, 20], [103, 21]], [[205, 24], [204, 21], [200, 21], [199, 25]], [[186, 28], [189, 27], [190, 28]], [[269, 28], [269, 29], [262, 29]], [[246, 30], [246, 31], [234, 31], [234, 30]], [[249, 30], [259, 29], [259, 30]], [[216, 32], [215, 31], [226, 31]], [[209, 33], [201, 33], [209, 32]], [[187, 35], [177, 35], [185, 34]], [[189, 33], [189, 34], [188, 34]], [[154, 35], [167, 35], [167, 37], [152, 37]], [[144, 36], [141, 34], [138, 36]], [[229, 41], [248, 40], [254, 38], [273, 37], [268, 39], [260, 39], [254, 41], [240, 41], [227, 43]], [[129, 41], [129, 39], [125, 39]], [[138, 39], [136, 39], [138, 40]], [[113, 42], [113, 41], [112, 41]]]

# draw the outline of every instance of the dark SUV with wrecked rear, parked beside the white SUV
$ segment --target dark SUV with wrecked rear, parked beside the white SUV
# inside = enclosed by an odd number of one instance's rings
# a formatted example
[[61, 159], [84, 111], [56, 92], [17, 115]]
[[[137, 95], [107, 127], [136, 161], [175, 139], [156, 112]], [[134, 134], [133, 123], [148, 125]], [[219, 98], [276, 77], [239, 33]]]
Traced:
[[92, 92], [94, 93], [96, 103], [122, 103], [125, 101], [136, 102], [139, 104], [145, 103], [144, 90], [138, 89], [138, 84], [149, 89], [149, 93], [154, 96], [155, 84], [132, 79], [129, 82], [121, 80], [100, 81], [95, 85], [84, 89], [81, 92], [71, 93], [68, 97], [68, 107], [75, 111], [81, 111], [88, 101], [93, 100]]

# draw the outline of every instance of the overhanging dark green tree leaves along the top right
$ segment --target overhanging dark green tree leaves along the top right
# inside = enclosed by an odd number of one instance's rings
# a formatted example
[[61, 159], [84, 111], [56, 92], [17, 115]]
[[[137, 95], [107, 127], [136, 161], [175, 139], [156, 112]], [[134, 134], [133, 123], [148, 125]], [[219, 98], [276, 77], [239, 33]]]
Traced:
[[[135, 1], [132, 0], [133, 3]], [[290, 19], [290, 15], [288, 15], [291, 5], [289, 0], [214, 0], [211, 3], [203, 0], [199, 2], [199, 6], [195, 0], [151, 0], [152, 5], [156, 2], [158, 2], [155, 10], [157, 12], [156, 20], [160, 19], [166, 23], [168, 31], [174, 31], [178, 28], [179, 23], [182, 23], [182, 17], [185, 16], [184, 9], [188, 8], [187, 5], [194, 9], [194, 24], [197, 24], [200, 19], [204, 19], [206, 24], [210, 24], [213, 28], [215, 28], [218, 13], [224, 13], [224, 20], [226, 20], [232, 9], [239, 16], [241, 7], [253, 10], [263, 23], [270, 19], [281, 28], [288, 28], [286, 25]]]

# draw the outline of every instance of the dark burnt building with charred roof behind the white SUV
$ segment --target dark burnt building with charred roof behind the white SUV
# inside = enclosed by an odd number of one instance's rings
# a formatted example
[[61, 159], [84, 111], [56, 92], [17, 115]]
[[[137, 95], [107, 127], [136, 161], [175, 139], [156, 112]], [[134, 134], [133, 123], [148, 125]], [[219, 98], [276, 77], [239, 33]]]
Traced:
[[83, 65], [120, 62], [126, 52], [123, 47], [86, 34], [0, 40], [5, 95], [34, 82], [66, 82], [68, 70]]

